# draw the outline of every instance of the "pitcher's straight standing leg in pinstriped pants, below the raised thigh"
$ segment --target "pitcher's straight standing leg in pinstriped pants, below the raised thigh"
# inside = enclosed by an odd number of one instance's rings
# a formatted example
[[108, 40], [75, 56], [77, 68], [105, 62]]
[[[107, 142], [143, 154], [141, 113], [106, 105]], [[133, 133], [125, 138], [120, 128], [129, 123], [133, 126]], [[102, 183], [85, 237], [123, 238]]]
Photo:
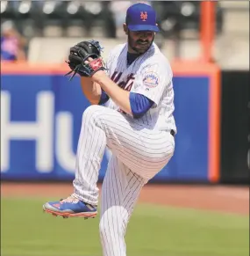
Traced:
[[125, 256], [125, 230], [147, 180], [132, 172], [114, 155], [102, 187], [100, 237], [104, 256]]

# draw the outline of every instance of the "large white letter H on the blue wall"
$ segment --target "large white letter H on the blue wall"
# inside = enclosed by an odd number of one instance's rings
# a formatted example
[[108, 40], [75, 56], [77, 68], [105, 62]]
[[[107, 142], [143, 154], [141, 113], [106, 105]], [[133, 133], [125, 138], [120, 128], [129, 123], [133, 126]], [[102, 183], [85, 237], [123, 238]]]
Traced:
[[10, 168], [11, 140], [35, 140], [38, 172], [52, 171], [54, 94], [39, 92], [36, 109], [37, 121], [11, 121], [11, 95], [8, 91], [1, 91], [1, 172]]

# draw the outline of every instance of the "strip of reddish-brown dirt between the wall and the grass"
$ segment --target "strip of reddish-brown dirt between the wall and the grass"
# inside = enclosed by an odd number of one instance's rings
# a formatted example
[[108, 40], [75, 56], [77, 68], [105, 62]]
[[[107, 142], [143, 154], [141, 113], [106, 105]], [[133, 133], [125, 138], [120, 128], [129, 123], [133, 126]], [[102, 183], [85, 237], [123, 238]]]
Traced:
[[[101, 192], [101, 185], [99, 184]], [[51, 197], [52, 200], [72, 193], [71, 183], [2, 182], [2, 197]], [[249, 215], [249, 188], [203, 185], [153, 185], [141, 191], [139, 202], [181, 208]]]

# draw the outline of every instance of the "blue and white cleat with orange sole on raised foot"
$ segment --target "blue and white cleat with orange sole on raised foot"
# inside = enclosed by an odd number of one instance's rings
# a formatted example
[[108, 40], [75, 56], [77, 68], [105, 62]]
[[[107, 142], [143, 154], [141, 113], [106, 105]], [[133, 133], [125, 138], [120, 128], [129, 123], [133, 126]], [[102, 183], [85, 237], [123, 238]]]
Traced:
[[85, 219], [94, 218], [97, 215], [96, 207], [80, 201], [73, 195], [60, 201], [48, 201], [43, 205], [43, 210], [53, 216], [84, 217]]

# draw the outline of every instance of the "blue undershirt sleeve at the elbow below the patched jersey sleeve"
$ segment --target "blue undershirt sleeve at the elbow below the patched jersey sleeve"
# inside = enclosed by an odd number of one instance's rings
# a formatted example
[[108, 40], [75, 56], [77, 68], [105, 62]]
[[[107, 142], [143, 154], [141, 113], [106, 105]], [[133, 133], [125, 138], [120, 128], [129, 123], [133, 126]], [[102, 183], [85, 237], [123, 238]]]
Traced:
[[146, 98], [146, 96], [130, 92], [129, 94], [130, 106], [132, 110], [132, 115], [134, 118], [140, 118], [146, 111], [154, 105], [154, 101]]

